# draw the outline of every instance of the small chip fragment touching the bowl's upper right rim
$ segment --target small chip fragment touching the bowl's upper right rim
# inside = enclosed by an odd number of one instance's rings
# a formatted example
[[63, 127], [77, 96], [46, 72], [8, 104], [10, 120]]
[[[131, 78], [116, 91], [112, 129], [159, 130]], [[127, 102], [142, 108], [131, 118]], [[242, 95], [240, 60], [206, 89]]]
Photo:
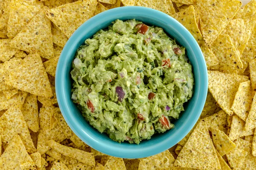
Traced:
[[208, 48], [205, 45], [201, 46], [201, 50], [204, 54], [204, 59], [207, 65], [207, 68], [212, 67], [214, 65], [218, 65], [219, 60], [218, 58], [213, 54], [212, 50]]

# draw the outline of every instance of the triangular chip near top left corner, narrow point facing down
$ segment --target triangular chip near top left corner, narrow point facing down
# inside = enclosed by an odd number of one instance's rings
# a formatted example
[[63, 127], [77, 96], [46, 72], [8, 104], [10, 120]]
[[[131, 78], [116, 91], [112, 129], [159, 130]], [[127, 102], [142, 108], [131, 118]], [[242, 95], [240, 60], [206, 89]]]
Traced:
[[35, 17], [39, 8], [36, 6], [24, 6], [20, 3], [16, 3], [10, 10], [9, 21], [7, 26], [7, 36], [14, 38], [29, 21]]

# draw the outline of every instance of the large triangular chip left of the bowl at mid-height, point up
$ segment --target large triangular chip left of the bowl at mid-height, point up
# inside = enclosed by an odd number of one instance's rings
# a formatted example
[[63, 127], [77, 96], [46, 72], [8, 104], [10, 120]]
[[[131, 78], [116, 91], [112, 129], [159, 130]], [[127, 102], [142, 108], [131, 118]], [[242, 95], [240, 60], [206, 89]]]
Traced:
[[32, 51], [9, 73], [6, 84], [37, 96], [52, 96], [51, 85], [37, 51]]

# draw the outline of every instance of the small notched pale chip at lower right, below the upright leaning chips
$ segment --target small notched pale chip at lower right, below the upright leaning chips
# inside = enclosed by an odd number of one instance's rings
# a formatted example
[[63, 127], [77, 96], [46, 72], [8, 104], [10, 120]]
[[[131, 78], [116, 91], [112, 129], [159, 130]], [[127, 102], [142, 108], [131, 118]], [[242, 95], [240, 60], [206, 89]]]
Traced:
[[232, 118], [232, 124], [230, 127], [229, 137], [231, 140], [238, 139], [242, 136], [253, 135], [254, 129], [245, 130], [244, 129], [245, 122], [240, 119], [238, 116], [234, 115]]

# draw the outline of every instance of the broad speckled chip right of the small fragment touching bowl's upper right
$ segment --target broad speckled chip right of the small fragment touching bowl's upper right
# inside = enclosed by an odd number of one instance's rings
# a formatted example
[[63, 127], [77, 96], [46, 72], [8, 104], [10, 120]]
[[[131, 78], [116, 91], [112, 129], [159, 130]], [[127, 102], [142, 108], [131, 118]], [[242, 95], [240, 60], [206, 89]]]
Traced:
[[211, 49], [219, 60], [219, 70], [241, 70], [243, 68], [243, 63], [229, 35], [220, 34], [212, 43]]

